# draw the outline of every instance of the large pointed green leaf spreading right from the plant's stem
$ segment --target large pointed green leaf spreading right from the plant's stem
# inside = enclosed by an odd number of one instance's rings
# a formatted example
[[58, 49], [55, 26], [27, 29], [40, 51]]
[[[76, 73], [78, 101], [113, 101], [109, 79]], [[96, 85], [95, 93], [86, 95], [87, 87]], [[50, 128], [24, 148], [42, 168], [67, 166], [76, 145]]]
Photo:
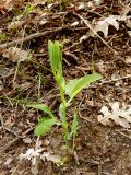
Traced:
[[88, 86], [92, 82], [102, 79], [98, 73], [85, 75], [80, 79], [70, 80], [64, 88], [66, 94], [73, 98], [82, 89]]

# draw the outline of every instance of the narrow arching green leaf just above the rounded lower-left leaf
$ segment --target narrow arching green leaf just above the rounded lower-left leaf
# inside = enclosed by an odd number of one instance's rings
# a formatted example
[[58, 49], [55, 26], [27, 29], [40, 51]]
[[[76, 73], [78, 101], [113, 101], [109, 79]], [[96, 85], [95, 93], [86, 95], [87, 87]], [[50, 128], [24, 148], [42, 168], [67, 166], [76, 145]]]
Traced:
[[34, 104], [34, 105], [27, 105], [28, 107], [37, 108], [41, 112], [47, 113], [51, 118], [55, 118], [55, 115], [52, 114], [51, 109], [44, 104]]

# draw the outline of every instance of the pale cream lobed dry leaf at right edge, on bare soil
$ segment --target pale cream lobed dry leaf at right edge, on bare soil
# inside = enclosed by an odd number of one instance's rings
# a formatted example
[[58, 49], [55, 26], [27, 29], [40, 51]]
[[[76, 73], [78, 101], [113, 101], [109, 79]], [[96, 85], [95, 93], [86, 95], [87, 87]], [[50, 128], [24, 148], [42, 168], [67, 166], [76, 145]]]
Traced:
[[98, 116], [98, 121], [105, 126], [112, 126], [112, 120], [116, 125], [120, 125], [123, 128], [130, 128], [131, 124], [131, 106], [126, 106], [122, 104], [122, 108], [119, 106], [119, 102], [114, 102], [110, 104], [111, 112], [107, 106], [103, 106], [100, 113], [103, 115]]

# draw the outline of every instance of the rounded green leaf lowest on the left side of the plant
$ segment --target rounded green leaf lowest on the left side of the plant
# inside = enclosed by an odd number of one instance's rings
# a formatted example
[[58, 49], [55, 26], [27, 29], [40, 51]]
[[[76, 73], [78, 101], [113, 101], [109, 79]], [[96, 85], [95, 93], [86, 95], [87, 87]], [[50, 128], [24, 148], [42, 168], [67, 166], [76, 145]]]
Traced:
[[50, 131], [52, 126], [56, 124], [56, 118], [39, 118], [38, 125], [35, 128], [36, 136], [44, 136]]

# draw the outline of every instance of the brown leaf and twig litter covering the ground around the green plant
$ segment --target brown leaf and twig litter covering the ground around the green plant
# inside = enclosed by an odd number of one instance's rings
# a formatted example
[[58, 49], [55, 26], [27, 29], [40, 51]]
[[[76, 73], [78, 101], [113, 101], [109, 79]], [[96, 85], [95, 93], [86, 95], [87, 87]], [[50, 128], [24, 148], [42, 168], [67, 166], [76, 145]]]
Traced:
[[[28, 8], [27, 3], [0, 3], [0, 175], [130, 175], [130, 122], [128, 128], [114, 120], [111, 126], [98, 122], [103, 106], [111, 110], [114, 102], [120, 107], [131, 105], [130, 1], [75, 0], [62, 9], [59, 1], [34, 0]], [[110, 15], [108, 23], [105, 19]], [[116, 15], [126, 19], [116, 20]], [[99, 31], [102, 22], [106, 31]], [[34, 127], [41, 115], [26, 104], [47, 104], [57, 115], [60, 103], [48, 62], [48, 39], [58, 39], [63, 47], [67, 80], [94, 70], [104, 78], [83, 90], [68, 110], [70, 121], [71, 112], [79, 109], [74, 156], [61, 166], [38, 160], [36, 168], [20, 160], [21, 153], [35, 148]], [[60, 155], [61, 129], [53, 128], [40, 142], [44, 151]]]

